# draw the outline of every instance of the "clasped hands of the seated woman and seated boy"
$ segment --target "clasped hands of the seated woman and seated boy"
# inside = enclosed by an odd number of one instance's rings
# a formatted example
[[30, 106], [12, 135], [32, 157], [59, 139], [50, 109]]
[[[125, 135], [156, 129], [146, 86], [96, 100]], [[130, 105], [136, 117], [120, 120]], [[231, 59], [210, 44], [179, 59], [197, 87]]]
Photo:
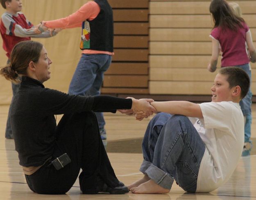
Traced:
[[151, 103], [154, 102], [153, 99], [135, 99], [132, 97], [127, 98], [132, 99], [131, 109], [118, 110], [120, 113], [135, 115], [136, 120], [141, 121], [156, 112], [156, 109], [151, 105]]

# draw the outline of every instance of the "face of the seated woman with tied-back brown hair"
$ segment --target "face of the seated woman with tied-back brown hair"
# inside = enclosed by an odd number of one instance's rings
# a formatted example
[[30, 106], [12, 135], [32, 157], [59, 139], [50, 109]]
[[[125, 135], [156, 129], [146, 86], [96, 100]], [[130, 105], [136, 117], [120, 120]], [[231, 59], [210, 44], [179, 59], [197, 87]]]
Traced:
[[39, 80], [41, 83], [45, 82], [46, 80], [50, 79], [50, 64], [52, 64], [52, 60], [48, 58], [47, 51], [45, 47], [43, 47], [40, 58], [38, 62], [34, 62], [35, 66], [35, 75], [37, 80]]

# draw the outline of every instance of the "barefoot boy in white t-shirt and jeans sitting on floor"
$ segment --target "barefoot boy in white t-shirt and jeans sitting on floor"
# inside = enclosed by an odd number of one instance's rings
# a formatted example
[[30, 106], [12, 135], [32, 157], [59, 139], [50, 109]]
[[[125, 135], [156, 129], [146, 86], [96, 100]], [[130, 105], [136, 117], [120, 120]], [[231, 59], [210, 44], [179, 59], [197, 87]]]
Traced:
[[[144, 177], [128, 188], [133, 193], [168, 193], [175, 180], [194, 193], [210, 192], [227, 182], [242, 154], [244, 118], [239, 101], [249, 86], [245, 71], [224, 67], [211, 87], [211, 102], [151, 102], [162, 113], [150, 121], [143, 138]], [[138, 120], [143, 116], [136, 114]]]

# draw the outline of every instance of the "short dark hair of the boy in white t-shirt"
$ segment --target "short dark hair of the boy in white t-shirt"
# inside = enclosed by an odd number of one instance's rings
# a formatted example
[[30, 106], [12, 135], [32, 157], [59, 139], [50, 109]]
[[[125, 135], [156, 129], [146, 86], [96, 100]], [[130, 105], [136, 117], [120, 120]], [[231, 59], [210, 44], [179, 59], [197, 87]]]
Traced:
[[250, 88], [250, 78], [248, 74], [239, 67], [222, 67], [219, 71], [220, 74], [227, 76], [229, 88], [237, 85], [241, 88], [241, 99], [244, 98]]

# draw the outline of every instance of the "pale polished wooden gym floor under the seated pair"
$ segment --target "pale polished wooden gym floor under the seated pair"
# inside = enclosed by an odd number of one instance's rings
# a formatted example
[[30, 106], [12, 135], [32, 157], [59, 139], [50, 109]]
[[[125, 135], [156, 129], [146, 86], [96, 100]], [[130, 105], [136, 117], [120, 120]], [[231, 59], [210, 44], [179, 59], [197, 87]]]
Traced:
[[[0, 106], [0, 200], [251, 200], [256, 199], [256, 104], [253, 104], [252, 139], [253, 147], [243, 152], [239, 164], [230, 180], [219, 189], [205, 194], [185, 193], [173, 184], [170, 193], [162, 195], [133, 194], [125, 195], [83, 195], [79, 183], [66, 195], [39, 195], [27, 187], [23, 172], [18, 164], [18, 154], [14, 141], [5, 139], [5, 123], [9, 106]], [[59, 120], [61, 116], [57, 117]], [[143, 160], [140, 143], [150, 120], [141, 122], [121, 114], [105, 114], [107, 142], [106, 150], [111, 164], [120, 181], [131, 184], [142, 177], [138, 171]]]

